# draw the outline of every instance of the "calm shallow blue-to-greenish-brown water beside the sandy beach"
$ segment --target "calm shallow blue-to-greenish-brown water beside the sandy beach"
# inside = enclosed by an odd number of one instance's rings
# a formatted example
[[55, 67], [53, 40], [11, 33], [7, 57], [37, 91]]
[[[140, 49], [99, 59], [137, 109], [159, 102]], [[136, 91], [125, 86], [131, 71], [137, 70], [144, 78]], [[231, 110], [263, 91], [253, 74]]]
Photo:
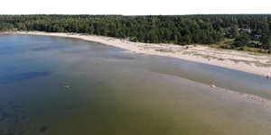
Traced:
[[271, 99], [247, 73], [29, 35], [1, 35], [0, 62], [0, 135], [271, 132], [268, 107], [208, 86]]

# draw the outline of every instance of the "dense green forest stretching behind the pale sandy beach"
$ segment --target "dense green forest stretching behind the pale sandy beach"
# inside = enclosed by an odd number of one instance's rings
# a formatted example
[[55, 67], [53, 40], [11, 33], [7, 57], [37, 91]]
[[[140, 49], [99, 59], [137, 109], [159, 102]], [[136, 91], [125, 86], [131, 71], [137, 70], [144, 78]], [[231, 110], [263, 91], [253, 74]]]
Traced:
[[271, 15], [0, 15], [0, 31], [78, 32], [139, 42], [271, 49]]

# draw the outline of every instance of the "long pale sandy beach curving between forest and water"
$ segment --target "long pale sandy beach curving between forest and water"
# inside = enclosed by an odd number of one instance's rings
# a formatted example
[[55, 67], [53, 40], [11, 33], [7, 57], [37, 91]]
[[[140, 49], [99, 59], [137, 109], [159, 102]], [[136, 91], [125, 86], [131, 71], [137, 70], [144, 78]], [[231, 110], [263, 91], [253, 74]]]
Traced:
[[60, 33], [43, 31], [7, 31], [5, 33], [30, 34], [77, 38], [95, 41], [106, 45], [126, 49], [130, 53], [180, 58], [204, 64], [231, 68], [258, 76], [271, 76], [271, 55], [251, 53], [230, 49], [213, 49], [203, 45], [173, 45], [140, 43], [104, 36], [79, 33]]

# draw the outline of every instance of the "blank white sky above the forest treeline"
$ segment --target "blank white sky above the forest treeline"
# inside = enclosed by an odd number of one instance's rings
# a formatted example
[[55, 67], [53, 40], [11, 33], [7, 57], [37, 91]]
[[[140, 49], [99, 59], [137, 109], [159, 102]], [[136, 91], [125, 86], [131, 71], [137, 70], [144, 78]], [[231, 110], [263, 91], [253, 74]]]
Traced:
[[0, 14], [271, 14], [271, 0], [3, 0]]

